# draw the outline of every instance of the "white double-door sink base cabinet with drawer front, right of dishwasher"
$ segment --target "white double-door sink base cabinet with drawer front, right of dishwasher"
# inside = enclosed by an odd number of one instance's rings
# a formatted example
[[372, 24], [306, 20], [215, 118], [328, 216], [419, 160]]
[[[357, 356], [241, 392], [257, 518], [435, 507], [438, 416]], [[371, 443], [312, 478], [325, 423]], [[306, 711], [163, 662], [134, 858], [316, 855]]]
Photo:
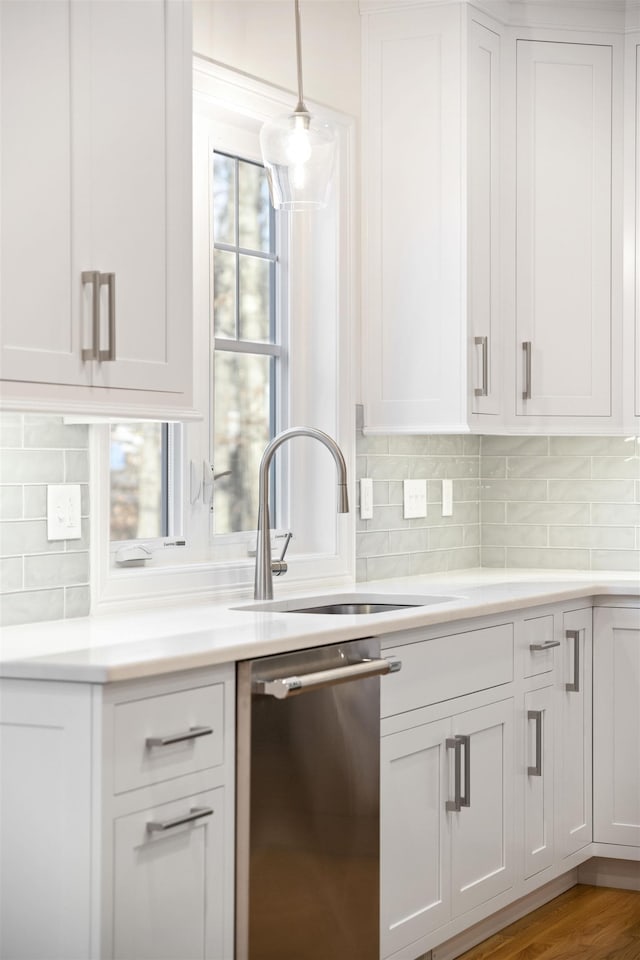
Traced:
[[[424, 942], [513, 882], [512, 624], [393, 654], [403, 669], [382, 687], [383, 957]], [[394, 715], [403, 696], [409, 710]]]

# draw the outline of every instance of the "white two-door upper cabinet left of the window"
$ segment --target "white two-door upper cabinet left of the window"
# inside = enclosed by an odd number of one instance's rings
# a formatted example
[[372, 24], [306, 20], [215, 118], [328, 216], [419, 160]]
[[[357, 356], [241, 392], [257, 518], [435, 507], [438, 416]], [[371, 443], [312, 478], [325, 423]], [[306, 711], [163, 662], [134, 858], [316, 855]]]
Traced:
[[191, 24], [170, 0], [7, 0], [3, 404], [191, 403]]

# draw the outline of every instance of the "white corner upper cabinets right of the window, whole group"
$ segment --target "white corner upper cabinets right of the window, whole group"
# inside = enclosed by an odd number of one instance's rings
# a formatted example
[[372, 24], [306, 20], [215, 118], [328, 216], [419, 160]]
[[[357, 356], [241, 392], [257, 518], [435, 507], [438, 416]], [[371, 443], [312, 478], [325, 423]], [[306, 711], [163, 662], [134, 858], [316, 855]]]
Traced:
[[551, 27], [536, 5], [500, 8], [526, 26], [361, 7], [365, 431], [628, 431], [638, 70], [619, 10], [558, 3]]

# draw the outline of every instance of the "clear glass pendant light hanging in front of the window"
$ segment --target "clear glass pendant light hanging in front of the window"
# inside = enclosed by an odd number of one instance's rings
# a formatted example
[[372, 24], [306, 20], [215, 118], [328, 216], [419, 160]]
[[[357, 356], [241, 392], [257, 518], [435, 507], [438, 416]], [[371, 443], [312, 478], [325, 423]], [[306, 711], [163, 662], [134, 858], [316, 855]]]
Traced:
[[309, 113], [303, 99], [299, 0], [294, 0], [294, 4], [298, 103], [293, 113], [264, 124], [260, 131], [260, 149], [273, 206], [282, 210], [311, 210], [327, 205], [336, 134], [330, 123]]

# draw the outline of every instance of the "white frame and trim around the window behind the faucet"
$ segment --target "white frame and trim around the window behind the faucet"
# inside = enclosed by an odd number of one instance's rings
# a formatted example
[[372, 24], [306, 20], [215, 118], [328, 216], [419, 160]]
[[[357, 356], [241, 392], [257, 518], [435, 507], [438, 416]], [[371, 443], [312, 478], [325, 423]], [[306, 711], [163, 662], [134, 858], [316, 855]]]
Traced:
[[[210, 483], [210, 441], [212, 423], [207, 412], [212, 409], [213, 365], [210, 306], [212, 277], [209, 250], [210, 222], [208, 210], [198, 203], [198, 189], [208, 183], [212, 164], [208, 163], [214, 146], [209, 108], [217, 113], [215, 140], [219, 149], [224, 146], [221, 137], [223, 125], [220, 115], [225, 111], [240, 118], [255, 130], [265, 120], [289, 111], [295, 96], [262, 81], [230, 70], [202, 57], [194, 57], [194, 165], [193, 176], [196, 197], [194, 203], [194, 397], [197, 409], [204, 414], [202, 422], [185, 423], [179, 431], [184, 444], [184, 466], [181, 475], [183, 490], [183, 528], [180, 539], [185, 546], [166, 549], [163, 541], [150, 544], [152, 559], [142, 567], [113, 566], [109, 550], [109, 450], [105, 428], [96, 428], [91, 439], [91, 553], [92, 553], [92, 611], [144, 606], [189, 597], [207, 597], [212, 600], [250, 597], [253, 586], [254, 560], [239, 557], [238, 538], [211, 536], [212, 525], [207, 499]], [[333, 199], [327, 211], [319, 214], [289, 215], [291, 231], [295, 234], [290, 251], [294, 249], [296, 264], [291, 270], [292, 280], [288, 302], [292, 311], [304, 314], [306, 333], [297, 329], [293, 334], [299, 347], [301, 370], [304, 357], [315, 360], [315, 348], [322, 344], [326, 357], [321, 364], [306, 366], [304, 376], [289, 378], [287, 405], [290, 416], [285, 424], [291, 426], [319, 426], [340, 444], [349, 471], [351, 502], [355, 504], [355, 355], [354, 318], [358, 316], [358, 278], [356, 272], [356, 197], [355, 197], [355, 123], [352, 118], [309, 101], [312, 111], [329, 119], [338, 131], [338, 169]], [[228, 143], [228, 141], [227, 141]], [[245, 153], [251, 157], [251, 152]], [[315, 219], [314, 219], [315, 218]], [[296, 267], [300, 271], [296, 273]], [[304, 284], [301, 272], [304, 270]], [[312, 302], [305, 299], [305, 290], [313, 287]], [[315, 342], [314, 342], [314, 337]], [[208, 363], [203, 362], [203, 357]], [[329, 370], [332, 367], [332, 370]], [[295, 369], [295, 368], [294, 368]], [[334, 372], [335, 371], [335, 372]], [[326, 380], [326, 382], [325, 382]], [[310, 386], [307, 386], [311, 382]], [[324, 391], [327, 390], [328, 393]], [[287, 411], [287, 413], [289, 412]], [[286, 413], [285, 413], [286, 416]], [[335, 511], [334, 464], [320, 444], [314, 444], [320, 455], [308, 474], [309, 441], [296, 440], [278, 452], [280, 469], [287, 472], [290, 483], [305, 491], [288, 505], [288, 524], [294, 531], [289, 550], [289, 572], [276, 581], [276, 592], [300, 590], [305, 581], [316, 587], [351, 582], [355, 571], [355, 515], [339, 516]], [[302, 444], [302, 449], [297, 449]], [[285, 454], [286, 451], [286, 454]], [[283, 455], [285, 454], [285, 455]], [[306, 496], [307, 491], [309, 497]], [[197, 492], [197, 497], [194, 496]], [[309, 498], [313, 502], [309, 502]], [[281, 508], [282, 514], [282, 508]], [[305, 526], [306, 525], [306, 526]], [[302, 545], [297, 531], [306, 529]], [[246, 546], [255, 534], [244, 535]], [[174, 538], [170, 537], [169, 541]], [[327, 541], [325, 543], [325, 540]], [[227, 541], [225, 543], [224, 541]], [[296, 542], [297, 541], [297, 542]], [[331, 541], [331, 542], [329, 542]], [[120, 544], [119, 546], [121, 546]]]

